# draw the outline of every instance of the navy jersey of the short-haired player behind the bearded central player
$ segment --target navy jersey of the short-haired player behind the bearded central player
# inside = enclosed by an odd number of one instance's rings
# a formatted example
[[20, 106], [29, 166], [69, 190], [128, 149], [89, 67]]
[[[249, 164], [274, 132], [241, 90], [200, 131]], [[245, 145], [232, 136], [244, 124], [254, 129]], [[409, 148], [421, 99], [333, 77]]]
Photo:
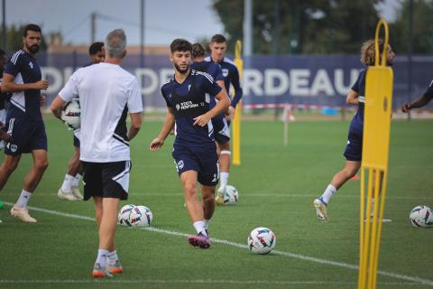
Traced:
[[[212, 60], [210, 57], [207, 57], [205, 58], [205, 61], [212, 61]], [[222, 61], [216, 63], [219, 64], [219, 66], [221, 67], [221, 71], [224, 77], [224, 85], [226, 86], [227, 93], [229, 94], [230, 91], [230, 83], [233, 85], [233, 88], [235, 89], [235, 96], [233, 98], [230, 96], [230, 94], [228, 96], [232, 98], [231, 106], [236, 107], [237, 103], [242, 98], [243, 91], [239, 79], [239, 71], [235, 66], [235, 62], [230, 61], [225, 57], [223, 58]]]

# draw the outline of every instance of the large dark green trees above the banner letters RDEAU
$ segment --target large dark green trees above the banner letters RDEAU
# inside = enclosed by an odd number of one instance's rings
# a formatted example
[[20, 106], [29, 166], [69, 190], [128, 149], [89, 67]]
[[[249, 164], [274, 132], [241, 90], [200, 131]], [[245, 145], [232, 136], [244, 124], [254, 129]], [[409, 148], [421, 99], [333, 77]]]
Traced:
[[[273, 52], [275, 15], [279, 1], [278, 53], [357, 53], [374, 37], [379, 20], [375, 5], [383, 0], [253, 1], [253, 52]], [[230, 51], [243, 37], [244, 0], [216, 0], [213, 5], [225, 24]], [[235, 12], [235, 13], [234, 13]]]

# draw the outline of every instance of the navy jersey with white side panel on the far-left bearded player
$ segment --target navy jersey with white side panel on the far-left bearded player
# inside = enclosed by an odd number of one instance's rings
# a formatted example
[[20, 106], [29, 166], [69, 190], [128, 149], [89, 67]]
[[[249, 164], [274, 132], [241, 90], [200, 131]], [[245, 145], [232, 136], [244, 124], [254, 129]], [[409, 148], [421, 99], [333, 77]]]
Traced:
[[[14, 83], [33, 83], [41, 80], [41, 69], [30, 54], [23, 50], [16, 51], [7, 61], [5, 73], [14, 76]], [[25, 117], [30, 120], [42, 120], [41, 90], [30, 89], [14, 92], [11, 106], [7, 110], [10, 117]]]

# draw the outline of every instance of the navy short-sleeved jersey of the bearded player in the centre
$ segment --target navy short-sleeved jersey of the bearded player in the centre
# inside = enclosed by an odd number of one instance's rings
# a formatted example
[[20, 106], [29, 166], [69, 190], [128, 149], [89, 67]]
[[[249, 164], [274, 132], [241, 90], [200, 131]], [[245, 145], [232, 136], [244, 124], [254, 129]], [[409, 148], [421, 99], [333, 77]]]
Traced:
[[194, 118], [209, 111], [210, 98], [221, 91], [217, 82], [206, 72], [189, 70], [181, 84], [174, 76], [161, 87], [167, 107], [172, 108], [176, 121], [176, 139], [173, 145], [215, 145], [214, 129], [209, 120], [207, 126], [193, 126]]

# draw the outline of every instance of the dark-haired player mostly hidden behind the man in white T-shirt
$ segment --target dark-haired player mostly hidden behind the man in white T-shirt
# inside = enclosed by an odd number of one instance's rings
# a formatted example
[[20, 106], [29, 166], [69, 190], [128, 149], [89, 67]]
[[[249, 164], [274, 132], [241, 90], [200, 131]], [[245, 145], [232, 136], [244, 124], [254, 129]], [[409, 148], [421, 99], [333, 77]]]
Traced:
[[[104, 42], [94, 42], [88, 48], [90, 61], [88, 65], [97, 64], [104, 61]], [[87, 66], [88, 66], [87, 65]], [[74, 147], [75, 152], [68, 164], [68, 172], [61, 187], [57, 193], [62, 200], [83, 200], [83, 196], [78, 190], [79, 180], [81, 179], [82, 166], [79, 161], [79, 128], [74, 130]]]

